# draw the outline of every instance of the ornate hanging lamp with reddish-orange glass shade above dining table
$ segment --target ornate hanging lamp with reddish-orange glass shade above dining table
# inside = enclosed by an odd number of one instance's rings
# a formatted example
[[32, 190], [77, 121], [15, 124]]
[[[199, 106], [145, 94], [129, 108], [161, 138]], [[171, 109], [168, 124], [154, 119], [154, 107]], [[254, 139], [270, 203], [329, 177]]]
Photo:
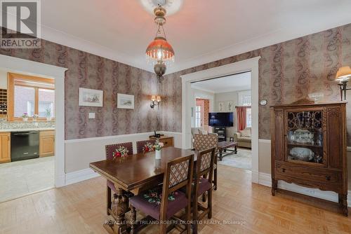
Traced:
[[166, 73], [166, 66], [174, 62], [174, 50], [166, 39], [164, 24], [166, 23], [166, 9], [160, 4], [154, 8], [154, 22], [157, 25], [157, 33], [146, 49], [146, 59], [154, 65], [154, 72], [160, 80]]

